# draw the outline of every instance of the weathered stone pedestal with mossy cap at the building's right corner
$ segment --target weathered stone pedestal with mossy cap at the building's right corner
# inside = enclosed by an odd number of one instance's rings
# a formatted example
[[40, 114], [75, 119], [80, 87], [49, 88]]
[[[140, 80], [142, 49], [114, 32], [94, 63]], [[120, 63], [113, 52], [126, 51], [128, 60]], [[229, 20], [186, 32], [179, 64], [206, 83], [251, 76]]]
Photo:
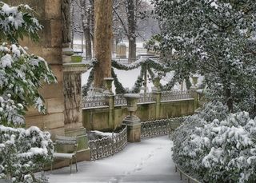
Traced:
[[[64, 55], [67, 57], [67, 55]], [[65, 135], [78, 139], [78, 161], [90, 160], [86, 129], [82, 126], [81, 74], [86, 71], [83, 63], [63, 64], [65, 97]]]

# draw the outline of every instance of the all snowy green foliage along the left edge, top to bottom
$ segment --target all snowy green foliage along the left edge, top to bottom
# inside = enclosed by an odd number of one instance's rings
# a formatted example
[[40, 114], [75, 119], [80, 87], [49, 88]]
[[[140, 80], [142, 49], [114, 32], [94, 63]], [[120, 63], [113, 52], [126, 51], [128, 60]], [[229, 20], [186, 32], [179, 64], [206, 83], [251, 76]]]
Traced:
[[18, 38], [38, 39], [42, 26], [30, 6], [0, 2], [0, 179], [39, 182], [34, 172], [52, 158], [50, 133], [23, 129], [30, 105], [45, 112], [38, 88], [56, 82], [46, 61], [18, 45]]

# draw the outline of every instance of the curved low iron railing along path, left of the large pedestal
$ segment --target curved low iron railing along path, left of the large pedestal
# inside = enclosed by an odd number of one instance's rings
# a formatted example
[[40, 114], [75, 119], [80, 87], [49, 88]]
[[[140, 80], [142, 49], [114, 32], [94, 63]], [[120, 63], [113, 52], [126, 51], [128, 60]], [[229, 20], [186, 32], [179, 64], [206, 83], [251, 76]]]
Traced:
[[89, 141], [90, 160], [95, 161], [118, 153], [127, 145], [127, 126], [120, 133], [113, 133], [112, 137]]

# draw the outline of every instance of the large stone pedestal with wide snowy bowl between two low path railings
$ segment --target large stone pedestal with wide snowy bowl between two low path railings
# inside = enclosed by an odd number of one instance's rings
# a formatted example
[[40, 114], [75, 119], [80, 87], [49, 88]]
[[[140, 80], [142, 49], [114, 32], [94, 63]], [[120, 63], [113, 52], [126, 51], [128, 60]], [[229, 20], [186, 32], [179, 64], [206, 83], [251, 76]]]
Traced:
[[139, 142], [141, 141], [141, 121], [133, 113], [137, 110], [137, 101], [140, 96], [135, 93], [126, 93], [124, 97], [129, 112], [129, 115], [122, 121], [123, 125], [127, 125], [127, 139], [129, 142]]

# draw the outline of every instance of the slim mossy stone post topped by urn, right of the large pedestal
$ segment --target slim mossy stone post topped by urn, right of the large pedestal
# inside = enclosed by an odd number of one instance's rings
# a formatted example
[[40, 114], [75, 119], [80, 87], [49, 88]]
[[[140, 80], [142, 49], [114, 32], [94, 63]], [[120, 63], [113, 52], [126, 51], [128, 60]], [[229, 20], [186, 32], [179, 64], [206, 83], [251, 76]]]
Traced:
[[156, 109], [155, 109], [155, 118], [160, 118], [161, 113], [161, 89], [160, 89], [160, 79], [161, 78], [154, 78], [154, 90], [152, 90], [153, 93], [153, 100], [156, 101]]

